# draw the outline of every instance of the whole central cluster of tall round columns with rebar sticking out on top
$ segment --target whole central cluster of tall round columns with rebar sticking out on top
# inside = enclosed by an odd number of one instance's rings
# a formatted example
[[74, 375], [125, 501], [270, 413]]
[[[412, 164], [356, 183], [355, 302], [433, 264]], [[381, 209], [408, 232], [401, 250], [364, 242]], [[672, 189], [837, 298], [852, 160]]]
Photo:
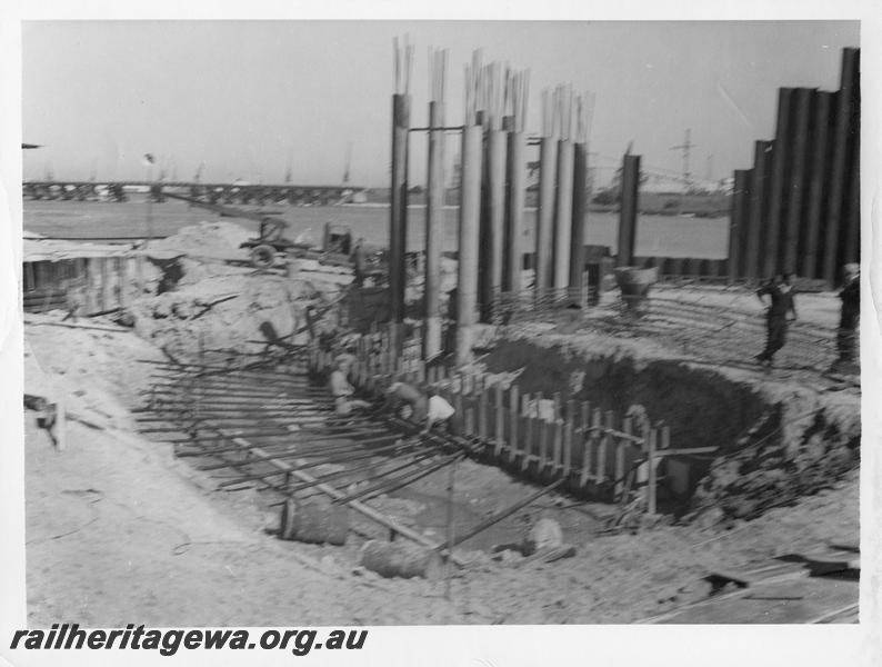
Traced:
[[[529, 72], [482, 64], [475, 51], [465, 66], [464, 121], [444, 126], [447, 52], [430, 50], [429, 166], [425, 213], [425, 335], [423, 356], [442, 351], [440, 308], [444, 239], [444, 137], [461, 133], [455, 361], [471, 360], [474, 325], [494, 321], [503, 295], [523, 289], [524, 198]], [[392, 321], [404, 318], [409, 79], [412, 48], [395, 42], [392, 101], [390, 290]], [[587, 205], [588, 131], [592, 98], [573, 99], [558, 87], [544, 96], [545, 132], [540, 139], [540, 201], [535, 232], [535, 296], [582, 287]], [[578, 109], [577, 112], [573, 109]], [[577, 130], [573, 132], [573, 126]]]

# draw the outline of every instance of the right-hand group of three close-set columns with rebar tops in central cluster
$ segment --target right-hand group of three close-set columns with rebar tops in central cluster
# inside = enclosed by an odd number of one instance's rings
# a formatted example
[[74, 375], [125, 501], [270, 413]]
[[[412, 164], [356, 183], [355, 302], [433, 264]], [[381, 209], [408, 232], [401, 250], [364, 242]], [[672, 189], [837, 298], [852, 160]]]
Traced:
[[[588, 135], [593, 97], [570, 87], [542, 92], [539, 206], [535, 220], [535, 298], [583, 287]], [[575, 132], [573, 132], [575, 125]]]

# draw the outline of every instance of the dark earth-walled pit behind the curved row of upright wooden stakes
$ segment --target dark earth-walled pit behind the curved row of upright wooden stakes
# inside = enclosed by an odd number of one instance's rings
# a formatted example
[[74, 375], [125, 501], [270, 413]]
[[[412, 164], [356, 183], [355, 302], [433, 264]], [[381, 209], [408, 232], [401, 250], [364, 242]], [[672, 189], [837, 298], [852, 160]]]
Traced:
[[[619, 415], [644, 412], [669, 428], [659, 510], [694, 518], [754, 518], [825, 488], [859, 464], [860, 421], [829, 394], [775, 386], [669, 359], [575, 352], [524, 340], [482, 359], [490, 372], [514, 372], [522, 392], [560, 405], [589, 401]], [[550, 401], [549, 401], [550, 402]]]

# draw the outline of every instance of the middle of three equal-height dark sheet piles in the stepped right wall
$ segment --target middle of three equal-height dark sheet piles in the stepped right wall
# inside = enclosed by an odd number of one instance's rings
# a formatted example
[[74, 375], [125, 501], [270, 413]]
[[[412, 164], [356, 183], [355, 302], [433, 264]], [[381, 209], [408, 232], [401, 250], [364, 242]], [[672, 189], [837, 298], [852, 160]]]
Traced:
[[800, 226], [804, 215], [805, 173], [809, 161], [809, 120], [812, 110], [811, 88], [798, 88], [793, 94], [793, 137], [790, 141], [790, 187], [786, 189], [786, 220], [784, 223], [782, 262], [784, 272], [799, 268]]

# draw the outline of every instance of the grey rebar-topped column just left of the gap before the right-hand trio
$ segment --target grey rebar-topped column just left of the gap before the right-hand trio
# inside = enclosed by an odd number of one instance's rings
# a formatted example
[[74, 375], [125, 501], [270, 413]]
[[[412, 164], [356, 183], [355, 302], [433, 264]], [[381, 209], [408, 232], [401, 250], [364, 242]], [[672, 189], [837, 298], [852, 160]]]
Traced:
[[527, 192], [527, 102], [530, 91], [530, 72], [510, 72], [507, 87], [509, 121], [508, 155], [505, 165], [505, 261], [502, 289], [518, 293], [522, 289], [523, 269], [523, 208]]

